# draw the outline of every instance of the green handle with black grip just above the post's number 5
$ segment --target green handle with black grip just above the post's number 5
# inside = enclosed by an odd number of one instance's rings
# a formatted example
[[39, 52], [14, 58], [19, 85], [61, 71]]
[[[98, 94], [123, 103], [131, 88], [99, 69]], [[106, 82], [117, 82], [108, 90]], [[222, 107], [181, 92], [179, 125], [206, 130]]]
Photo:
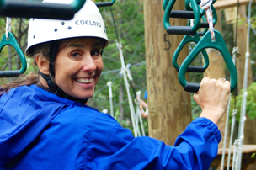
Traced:
[[[200, 11], [198, 4], [191, 0], [191, 6], [195, 13], [195, 24], [190, 26], [171, 26], [169, 22], [170, 13], [173, 9], [173, 5], [176, 2], [176, 0], [170, 0], [168, 3], [165, 1], [163, 3], [164, 15], [163, 15], [163, 26], [167, 30], [168, 34], [173, 35], [194, 35], [196, 30], [200, 28]], [[167, 5], [166, 5], [167, 3]]]

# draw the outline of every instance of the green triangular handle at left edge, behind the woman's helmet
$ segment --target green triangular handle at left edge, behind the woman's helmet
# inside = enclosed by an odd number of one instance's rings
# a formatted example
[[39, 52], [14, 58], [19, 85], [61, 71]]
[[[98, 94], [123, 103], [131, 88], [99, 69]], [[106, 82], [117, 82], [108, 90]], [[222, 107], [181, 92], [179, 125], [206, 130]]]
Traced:
[[24, 56], [23, 51], [20, 49], [18, 42], [16, 41], [15, 37], [12, 33], [8, 33], [8, 40], [6, 39], [6, 34], [3, 35], [2, 40], [0, 41], [0, 52], [3, 50], [5, 45], [12, 45], [16, 50], [20, 61], [21, 61], [21, 69], [20, 70], [13, 70], [13, 71], [1, 71], [0, 77], [17, 77], [20, 74], [23, 74], [27, 69], [27, 61]]

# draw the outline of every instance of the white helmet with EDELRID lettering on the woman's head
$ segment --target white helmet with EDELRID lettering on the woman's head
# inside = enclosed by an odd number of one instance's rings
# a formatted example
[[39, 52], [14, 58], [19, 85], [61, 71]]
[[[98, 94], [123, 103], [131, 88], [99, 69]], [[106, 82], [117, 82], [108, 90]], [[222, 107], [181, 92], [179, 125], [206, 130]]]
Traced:
[[[45, 0], [44, 3], [70, 4], [72, 0]], [[109, 45], [99, 8], [91, 0], [86, 0], [71, 20], [30, 19], [25, 53], [29, 56], [29, 48], [33, 45], [74, 37], [98, 37], [105, 40], [105, 47]]]

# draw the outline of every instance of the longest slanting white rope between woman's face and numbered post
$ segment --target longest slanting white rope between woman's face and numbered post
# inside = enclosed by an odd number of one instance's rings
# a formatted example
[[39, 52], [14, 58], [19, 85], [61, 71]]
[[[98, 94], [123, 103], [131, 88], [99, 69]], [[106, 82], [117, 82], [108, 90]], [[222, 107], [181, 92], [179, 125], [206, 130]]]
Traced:
[[125, 88], [126, 88], [126, 92], [127, 92], [127, 95], [128, 95], [128, 102], [129, 102], [130, 111], [131, 111], [131, 122], [132, 122], [133, 130], [134, 130], [134, 136], [137, 137], [138, 136], [138, 131], [137, 131], [137, 128], [136, 128], [136, 119], [135, 119], [136, 115], [135, 115], [135, 110], [134, 110], [132, 100], [131, 100], [131, 93], [130, 93], [130, 90], [129, 90], [129, 83], [128, 83], [127, 74], [126, 74], [127, 68], [125, 66], [122, 44], [119, 42], [119, 43], [116, 43], [116, 46], [117, 46], [117, 48], [119, 50], [119, 53], [120, 53], [120, 61], [121, 61], [121, 66], [122, 66], [121, 72], [123, 73], [123, 77], [124, 77], [124, 81], [125, 81]]

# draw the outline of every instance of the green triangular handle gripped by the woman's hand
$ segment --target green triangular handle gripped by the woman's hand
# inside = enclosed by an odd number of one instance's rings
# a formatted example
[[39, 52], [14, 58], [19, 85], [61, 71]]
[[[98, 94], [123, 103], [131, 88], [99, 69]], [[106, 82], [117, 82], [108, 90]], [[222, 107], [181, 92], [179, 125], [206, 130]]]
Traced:
[[191, 64], [191, 62], [194, 61], [195, 57], [200, 53], [200, 51], [206, 48], [214, 48], [221, 52], [221, 55], [223, 56], [223, 59], [226, 62], [227, 68], [230, 72], [231, 92], [237, 87], [237, 69], [232, 61], [232, 56], [227, 50], [227, 45], [223, 40], [221, 33], [218, 32], [217, 30], [214, 30], [214, 32], [216, 35], [216, 40], [214, 41], [211, 40], [211, 32], [208, 31], [201, 38], [198, 44], [195, 45], [195, 48], [191, 50], [191, 52], [189, 53], [189, 56], [185, 58], [185, 60], [180, 66], [179, 74], [178, 74], [179, 83], [184, 87], [184, 90], [187, 92], [196, 93], [200, 88], [200, 83], [187, 82], [185, 79], [185, 73], [187, 68]]

